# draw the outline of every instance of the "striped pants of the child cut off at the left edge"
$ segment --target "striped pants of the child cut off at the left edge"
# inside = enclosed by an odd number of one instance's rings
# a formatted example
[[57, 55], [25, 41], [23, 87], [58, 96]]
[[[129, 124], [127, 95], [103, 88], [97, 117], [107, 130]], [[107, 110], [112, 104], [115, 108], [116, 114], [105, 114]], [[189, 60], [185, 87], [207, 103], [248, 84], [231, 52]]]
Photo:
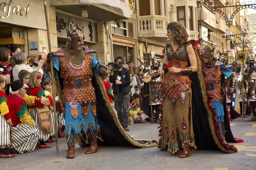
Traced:
[[10, 127], [6, 119], [0, 115], [0, 145], [10, 145]]

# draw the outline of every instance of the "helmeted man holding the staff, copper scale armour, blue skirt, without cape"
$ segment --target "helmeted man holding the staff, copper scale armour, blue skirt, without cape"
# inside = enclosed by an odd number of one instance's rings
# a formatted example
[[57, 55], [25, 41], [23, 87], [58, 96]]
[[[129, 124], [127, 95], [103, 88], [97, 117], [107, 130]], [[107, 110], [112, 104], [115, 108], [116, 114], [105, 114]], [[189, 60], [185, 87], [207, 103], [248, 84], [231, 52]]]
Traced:
[[93, 75], [105, 74], [106, 67], [96, 57], [96, 51], [83, 48], [83, 31], [83, 28], [72, 26], [71, 30], [67, 30], [65, 47], [56, 51], [53, 56], [51, 53], [47, 55], [47, 62], [53, 60], [55, 71], [58, 72], [55, 73], [58, 74], [56, 82], [64, 85], [63, 90], [61, 87], [58, 87], [58, 90], [60, 94], [61, 90], [63, 93], [68, 159], [75, 158], [76, 140], [80, 139], [78, 143], [81, 145], [83, 133], [83, 139], [90, 140], [90, 149], [85, 152], [86, 154], [96, 153], [99, 148], [96, 96], [91, 81]]

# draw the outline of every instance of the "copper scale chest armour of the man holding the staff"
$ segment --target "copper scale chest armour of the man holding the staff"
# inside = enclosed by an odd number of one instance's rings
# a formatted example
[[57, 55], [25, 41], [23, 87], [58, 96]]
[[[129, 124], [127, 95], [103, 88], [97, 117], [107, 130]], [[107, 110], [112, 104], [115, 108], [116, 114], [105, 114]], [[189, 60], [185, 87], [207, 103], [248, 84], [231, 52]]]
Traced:
[[[96, 96], [91, 83], [93, 75], [92, 53], [86, 53], [81, 65], [75, 65], [65, 56], [59, 56], [61, 77], [63, 78], [63, 102], [70, 106], [81, 103], [82, 108], [88, 110], [88, 102], [92, 104], [93, 114], [96, 114]], [[83, 113], [88, 113], [83, 111]]]

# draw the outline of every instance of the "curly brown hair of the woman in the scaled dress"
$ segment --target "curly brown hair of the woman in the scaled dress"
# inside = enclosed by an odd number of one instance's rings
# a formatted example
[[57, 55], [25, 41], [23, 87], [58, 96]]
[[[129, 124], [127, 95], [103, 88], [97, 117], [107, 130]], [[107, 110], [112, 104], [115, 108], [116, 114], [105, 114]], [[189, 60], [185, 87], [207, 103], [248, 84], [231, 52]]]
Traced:
[[182, 45], [188, 40], [189, 34], [178, 22], [172, 21], [167, 25], [167, 30], [172, 32], [172, 39], [177, 45]]

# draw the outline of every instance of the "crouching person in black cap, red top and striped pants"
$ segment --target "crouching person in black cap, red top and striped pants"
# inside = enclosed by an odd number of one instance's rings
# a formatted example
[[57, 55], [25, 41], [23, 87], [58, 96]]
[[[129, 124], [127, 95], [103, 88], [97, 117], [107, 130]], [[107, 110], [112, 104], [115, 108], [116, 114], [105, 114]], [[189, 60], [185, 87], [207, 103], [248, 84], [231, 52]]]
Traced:
[[[20, 81], [11, 83], [11, 91], [7, 96], [9, 111], [12, 115], [12, 153], [32, 152], [38, 143], [39, 130], [30, 116], [26, 101], [26, 87]], [[35, 98], [35, 97], [34, 97]], [[35, 101], [35, 100], [34, 100]], [[37, 100], [39, 103], [41, 100]]]

